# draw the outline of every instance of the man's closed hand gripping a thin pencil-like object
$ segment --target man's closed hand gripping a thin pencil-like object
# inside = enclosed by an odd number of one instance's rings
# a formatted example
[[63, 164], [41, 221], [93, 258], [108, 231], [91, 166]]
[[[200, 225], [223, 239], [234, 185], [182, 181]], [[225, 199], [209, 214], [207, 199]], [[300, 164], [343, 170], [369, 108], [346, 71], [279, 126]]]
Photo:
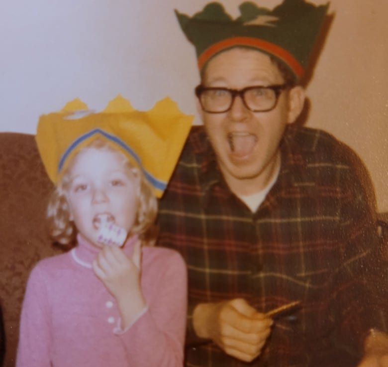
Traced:
[[201, 303], [193, 314], [198, 337], [213, 340], [226, 354], [244, 362], [251, 362], [260, 355], [272, 323], [240, 298]]

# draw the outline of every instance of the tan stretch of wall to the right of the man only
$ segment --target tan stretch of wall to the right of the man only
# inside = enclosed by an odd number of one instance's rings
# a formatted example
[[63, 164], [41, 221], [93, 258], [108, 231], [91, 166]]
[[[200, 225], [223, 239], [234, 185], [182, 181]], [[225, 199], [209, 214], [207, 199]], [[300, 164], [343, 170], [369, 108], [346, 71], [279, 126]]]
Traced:
[[308, 96], [307, 125], [346, 142], [367, 165], [388, 211], [388, 1], [332, 0], [335, 12]]

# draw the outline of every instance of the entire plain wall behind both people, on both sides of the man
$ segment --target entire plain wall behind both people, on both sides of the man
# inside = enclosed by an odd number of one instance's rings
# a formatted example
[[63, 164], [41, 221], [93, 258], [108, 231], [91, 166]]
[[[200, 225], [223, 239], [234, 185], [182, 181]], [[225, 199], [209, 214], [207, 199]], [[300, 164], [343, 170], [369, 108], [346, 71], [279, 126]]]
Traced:
[[[173, 9], [193, 14], [206, 2], [0, 1], [0, 130], [34, 132], [40, 114], [76, 96], [98, 110], [118, 93], [138, 109], [169, 95], [195, 114], [194, 49]], [[242, 0], [222, 2], [236, 16]], [[332, 0], [330, 11], [335, 16], [307, 87], [307, 125], [358, 152], [379, 209], [388, 211], [388, 1]]]

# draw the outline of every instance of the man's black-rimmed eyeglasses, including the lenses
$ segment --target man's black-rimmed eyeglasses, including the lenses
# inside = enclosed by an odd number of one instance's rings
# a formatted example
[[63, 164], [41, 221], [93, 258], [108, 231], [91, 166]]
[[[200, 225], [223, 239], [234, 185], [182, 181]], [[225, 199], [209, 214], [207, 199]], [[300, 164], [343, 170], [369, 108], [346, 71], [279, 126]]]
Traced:
[[239, 96], [244, 106], [252, 112], [267, 112], [273, 110], [280, 93], [288, 87], [287, 84], [253, 86], [243, 89], [213, 88], [198, 85], [195, 95], [198, 97], [202, 110], [210, 114], [221, 114], [232, 108], [234, 99]]

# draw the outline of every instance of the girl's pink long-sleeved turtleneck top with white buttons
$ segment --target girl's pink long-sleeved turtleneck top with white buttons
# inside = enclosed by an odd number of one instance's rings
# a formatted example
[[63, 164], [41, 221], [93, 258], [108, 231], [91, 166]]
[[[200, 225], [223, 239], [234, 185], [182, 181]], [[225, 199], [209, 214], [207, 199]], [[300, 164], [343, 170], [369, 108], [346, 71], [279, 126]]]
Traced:
[[[124, 252], [132, 249], [128, 241]], [[181, 367], [187, 274], [180, 254], [143, 247], [141, 288], [148, 307], [123, 331], [115, 299], [91, 268], [97, 252], [79, 238], [70, 252], [34, 267], [16, 367]]]

